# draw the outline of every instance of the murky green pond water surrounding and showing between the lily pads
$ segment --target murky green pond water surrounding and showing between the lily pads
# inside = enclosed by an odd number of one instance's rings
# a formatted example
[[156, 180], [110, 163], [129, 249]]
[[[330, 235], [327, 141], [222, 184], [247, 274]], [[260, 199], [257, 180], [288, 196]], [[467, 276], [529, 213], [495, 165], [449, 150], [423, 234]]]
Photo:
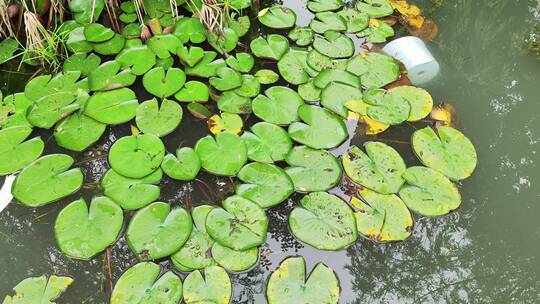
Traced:
[[[462, 207], [440, 218], [416, 219], [414, 234], [401, 243], [376, 244], [360, 239], [354, 246], [323, 252], [297, 242], [287, 228], [287, 215], [299, 196], [269, 210], [268, 241], [260, 263], [233, 275], [233, 303], [265, 303], [266, 280], [287, 256], [303, 255], [308, 270], [324, 262], [339, 276], [341, 303], [535, 303], [540, 302], [540, 60], [527, 39], [540, 26], [537, 0], [424, 0], [439, 26], [429, 44], [441, 73], [424, 86], [436, 102], [448, 102], [459, 114], [460, 127], [475, 144], [479, 165], [460, 185]], [[285, 1], [309, 16], [303, 2]], [[536, 28], [538, 32], [538, 28]], [[2, 72], [2, 90], [20, 91], [24, 81]], [[142, 99], [147, 97], [138, 92]], [[86, 177], [82, 194], [99, 193], [97, 183], [107, 169], [106, 151], [130, 132], [115, 128], [99, 147], [73, 155]], [[393, 131], [400, 136], [407, 130]], [[191, 146], [207, 133], [204, 122], [184, 115], [181, 127], [166, 137], [167, 149]], [[402, 134], [403, 133], [403, 134]], [[49, 153], [50, 133], [42, 134]], [[354, 138], [353, 143], [365, 141]], [[410, 155], [410, 147], [389, 143]], [[411, 155], [412, 156], [412, 155]], [[414, 164], [412, 157], [406, 158]], [[173, 204], [217, 201], [230, 192], [231, 180], [201, 176], [178, 183], [164, 179], [162, 200]], [[210, 189], [209, 189], [210, 188]], [[57, 249], [52, 224], [61, 203], [30, 209], [18, 204], [0, 215], [0, 295], [28, 276], [70, 275], [75, 283], [59, 303], [107, 303], [107, 260], [73, 261]], [[125, 240], [111, 249], [116, 281], [136, 261]]]

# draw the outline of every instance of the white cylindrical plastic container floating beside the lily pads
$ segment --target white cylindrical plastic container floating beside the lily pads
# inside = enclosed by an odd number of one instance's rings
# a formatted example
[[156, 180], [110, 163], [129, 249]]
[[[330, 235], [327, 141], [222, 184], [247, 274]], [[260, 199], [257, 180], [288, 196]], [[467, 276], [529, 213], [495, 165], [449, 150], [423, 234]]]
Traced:
[[398, 38], [389, 42], [383, 52], [403, 62], [414, 85], [427, 83], [439, 74], [439, 63], [420, 38]]

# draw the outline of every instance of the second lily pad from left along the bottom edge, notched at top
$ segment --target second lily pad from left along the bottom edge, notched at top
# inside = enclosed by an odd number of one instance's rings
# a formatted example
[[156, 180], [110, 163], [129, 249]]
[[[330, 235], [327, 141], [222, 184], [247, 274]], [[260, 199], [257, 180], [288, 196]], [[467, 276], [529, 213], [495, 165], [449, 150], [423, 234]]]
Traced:
[[[160, 276], [161, 267], [142, 262], [122, 274], [111, 295], [111, 304], [176, 304], [182, 299], [182, 280], [172, 271]], [[158, 279], [159, 278], [159, 279]]]

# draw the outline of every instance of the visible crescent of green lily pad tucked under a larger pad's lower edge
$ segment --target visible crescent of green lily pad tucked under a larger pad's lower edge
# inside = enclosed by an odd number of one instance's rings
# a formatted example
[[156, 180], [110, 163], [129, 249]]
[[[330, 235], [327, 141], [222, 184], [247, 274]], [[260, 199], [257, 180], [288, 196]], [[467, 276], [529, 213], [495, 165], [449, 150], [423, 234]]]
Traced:
[[221, 267], [229, 271], [245, 271], [257, 264], [259, 248], [253, 247], [248, 250], [237, 251], [220, 243], [214, 243], [212, 245], [212, 257]]

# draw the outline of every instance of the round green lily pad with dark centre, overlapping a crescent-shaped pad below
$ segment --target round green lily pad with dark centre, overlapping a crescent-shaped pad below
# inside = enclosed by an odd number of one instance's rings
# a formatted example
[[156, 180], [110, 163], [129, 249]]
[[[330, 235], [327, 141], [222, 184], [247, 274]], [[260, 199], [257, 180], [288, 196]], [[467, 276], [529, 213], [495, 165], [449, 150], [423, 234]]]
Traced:
[[234, 250], [247, 250], [266, 241], [268, 217], [256, 203], [241, 196], [223, 201], [206, 218], [206, 231], [218, 243]]

